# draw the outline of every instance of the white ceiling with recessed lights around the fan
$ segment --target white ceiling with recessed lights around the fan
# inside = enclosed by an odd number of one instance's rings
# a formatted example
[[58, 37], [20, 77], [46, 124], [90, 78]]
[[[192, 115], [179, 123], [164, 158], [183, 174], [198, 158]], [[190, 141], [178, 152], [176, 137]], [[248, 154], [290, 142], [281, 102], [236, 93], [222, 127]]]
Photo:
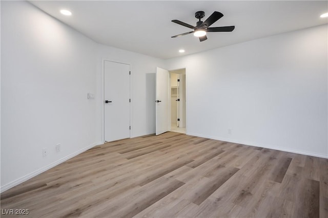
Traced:
[[[328, 23], [327, 1], [30, 1], [96, 42], [157, 58], [188, 55], [283, 32]], [[69, 9], [67, 17], [59, 13]], [[235, 26], [233, 32], [208, 33], [199, 42], [192, 31], [172, 19], [196, 25], [196, 11], [205, 20], [214, 11], [224, 16], [211, 27]]]

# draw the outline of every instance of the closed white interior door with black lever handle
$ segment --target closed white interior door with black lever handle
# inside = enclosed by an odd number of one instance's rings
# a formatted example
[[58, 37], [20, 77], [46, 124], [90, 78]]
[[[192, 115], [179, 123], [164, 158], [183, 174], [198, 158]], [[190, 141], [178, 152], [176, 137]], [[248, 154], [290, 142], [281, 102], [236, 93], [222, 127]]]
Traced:
[[105, 141], [130, 138], [130, 65], [104, 61]]

